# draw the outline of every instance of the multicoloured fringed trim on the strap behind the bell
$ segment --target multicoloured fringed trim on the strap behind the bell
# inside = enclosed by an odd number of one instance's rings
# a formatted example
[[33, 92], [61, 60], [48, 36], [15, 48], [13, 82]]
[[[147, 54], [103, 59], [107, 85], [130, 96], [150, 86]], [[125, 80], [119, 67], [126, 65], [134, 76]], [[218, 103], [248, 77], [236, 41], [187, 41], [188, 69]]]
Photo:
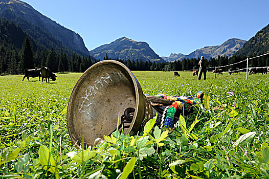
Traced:
[[164, 110], [161, 120], [161, 127], [173, 128], [174, 115], [177, 109], [188, 110], [192, 105], [200, 103], [203, 100], [204, 93], [197, 92], [194, 96], [167, 96], [165, 94], [158, 94], [156, 97], [174, 101], [170, 106]]

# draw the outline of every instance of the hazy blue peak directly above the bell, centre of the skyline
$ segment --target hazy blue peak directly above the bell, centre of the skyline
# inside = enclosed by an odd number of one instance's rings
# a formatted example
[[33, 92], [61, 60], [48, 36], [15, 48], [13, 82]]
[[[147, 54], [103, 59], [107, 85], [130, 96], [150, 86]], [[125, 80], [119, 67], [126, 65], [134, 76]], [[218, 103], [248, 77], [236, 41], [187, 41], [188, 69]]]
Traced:
[[165, 62], [159, 55], [157, 55], [148, 45], [143, 41], [134, 41], [132, 39], [122, 37], [109, 44], [104, 44], [94, 50], [89, 51], [89, 55], [96, 59], [103, 60], [104, 57], [111, 59], [123, 60], [142, 60], [142, 61], [158, 61]]

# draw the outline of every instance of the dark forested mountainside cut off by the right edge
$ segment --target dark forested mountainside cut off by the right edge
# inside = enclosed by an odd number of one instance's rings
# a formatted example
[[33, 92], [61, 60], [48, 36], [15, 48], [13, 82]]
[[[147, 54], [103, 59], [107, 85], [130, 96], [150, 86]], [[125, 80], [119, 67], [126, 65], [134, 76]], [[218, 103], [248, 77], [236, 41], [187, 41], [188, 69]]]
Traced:
[[257, 32], [235, 55], [251, 57], [265, 53], [269, 53], [269, 25]]

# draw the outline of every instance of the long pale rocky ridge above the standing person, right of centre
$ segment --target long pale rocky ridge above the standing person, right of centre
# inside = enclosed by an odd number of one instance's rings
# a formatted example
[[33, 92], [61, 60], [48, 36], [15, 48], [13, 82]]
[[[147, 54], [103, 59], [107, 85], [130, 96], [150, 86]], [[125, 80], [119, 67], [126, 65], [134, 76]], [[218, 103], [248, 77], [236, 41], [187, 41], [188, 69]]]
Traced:
[[210, 59], [211, 57], [217, 58], [218, 56], [231, 57], [236, 51], [243, 47], [245, 42], [245, 40], [231, 38], [220, 46], [207, 46], [202, 49], [197, 49], [189, 55], [171, 54], [166, 61], [182, 60], [184, 58], [200, 58], [201, 56], [205, 56], [207, 59]]

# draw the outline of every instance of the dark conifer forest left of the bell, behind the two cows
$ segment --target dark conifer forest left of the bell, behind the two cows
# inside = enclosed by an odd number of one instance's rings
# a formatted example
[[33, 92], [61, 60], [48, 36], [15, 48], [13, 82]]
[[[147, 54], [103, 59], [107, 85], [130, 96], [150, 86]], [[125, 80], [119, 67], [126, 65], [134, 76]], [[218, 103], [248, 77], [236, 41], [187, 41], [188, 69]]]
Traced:
[[48, 66], [53, 72], [84, 72], [97, 61], [91, 57], [73, 53], [68, 55], [62, 50], [57, 53], [54, 48], [34, 52], [32, 43], [26, 37], [22, 48], [14, 48], [10, 43], [0, 43], [0, 74], [23, 74], [25, 69]]

